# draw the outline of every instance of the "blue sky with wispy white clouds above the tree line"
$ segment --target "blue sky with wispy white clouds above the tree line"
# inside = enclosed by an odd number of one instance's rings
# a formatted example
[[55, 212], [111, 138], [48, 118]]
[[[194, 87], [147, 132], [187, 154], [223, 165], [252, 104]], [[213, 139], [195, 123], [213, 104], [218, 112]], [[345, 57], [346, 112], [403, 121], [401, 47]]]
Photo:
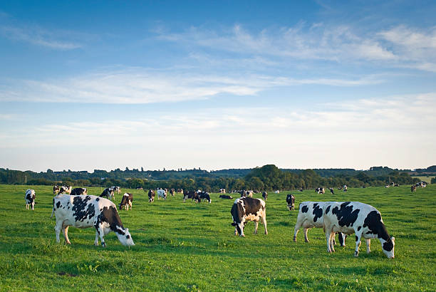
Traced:
[[435, 1], [0, 1], [0, 167], [436, 164]]

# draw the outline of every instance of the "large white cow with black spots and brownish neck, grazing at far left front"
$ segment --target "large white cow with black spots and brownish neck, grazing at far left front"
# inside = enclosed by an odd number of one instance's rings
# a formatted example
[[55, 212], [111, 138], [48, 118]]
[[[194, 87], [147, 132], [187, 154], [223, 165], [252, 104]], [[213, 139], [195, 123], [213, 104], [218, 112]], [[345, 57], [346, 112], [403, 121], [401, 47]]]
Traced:
[[129, 229], [124, 228], [118, 216], [117, 207], [113, 202], [97, 196], [67, 196], [58, 194], [53, 198], [53, 214], [56, 216], [55, 234], [56, 241], [59, 242], [61, 230], [67, 244], [71, 244], [68, 239], [68, 226], [77, 228], [95, 228], [94, 245], [98, 246], [100, 237], [101, 245], [106, 246], [103, 236], [110, 231], [114, 231], [118, 240], [124, 246], [134, 246]]

